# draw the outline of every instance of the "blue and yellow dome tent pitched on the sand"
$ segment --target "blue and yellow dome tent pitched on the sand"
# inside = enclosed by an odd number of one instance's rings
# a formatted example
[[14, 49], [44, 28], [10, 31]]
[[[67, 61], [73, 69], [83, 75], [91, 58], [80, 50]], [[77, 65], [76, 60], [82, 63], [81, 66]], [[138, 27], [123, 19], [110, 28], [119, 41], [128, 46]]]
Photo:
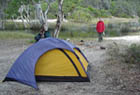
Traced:
[[18, 81], [38, 89], [36, 81], [89, 82], [88, 61], [65, 40], [46, 38], [27, 48], [4, 81]]

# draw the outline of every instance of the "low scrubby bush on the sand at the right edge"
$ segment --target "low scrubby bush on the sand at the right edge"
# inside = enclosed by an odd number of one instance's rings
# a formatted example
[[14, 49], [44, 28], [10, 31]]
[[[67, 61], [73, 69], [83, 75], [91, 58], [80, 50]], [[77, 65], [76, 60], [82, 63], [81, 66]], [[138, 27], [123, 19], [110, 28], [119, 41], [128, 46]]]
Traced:
[[131, 44], [127, 46], [115, 42], [113, 44], [108, 50], [112, 62], [140, 64], [140, 45]]

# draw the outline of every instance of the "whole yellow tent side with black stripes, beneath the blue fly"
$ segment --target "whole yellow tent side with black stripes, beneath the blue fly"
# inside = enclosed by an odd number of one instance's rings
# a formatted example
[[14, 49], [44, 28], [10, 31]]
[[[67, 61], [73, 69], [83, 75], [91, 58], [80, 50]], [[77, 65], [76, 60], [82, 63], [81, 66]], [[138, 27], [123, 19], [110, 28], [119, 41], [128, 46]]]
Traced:
[[87, 67], [87, 60], [76, 48], [74, 52], [66, 49], [53, 49], [39, 58], [35, 67], [35, 75], [39, 78], [70, 78], [72, 81], [87, 79], [88, 81]]

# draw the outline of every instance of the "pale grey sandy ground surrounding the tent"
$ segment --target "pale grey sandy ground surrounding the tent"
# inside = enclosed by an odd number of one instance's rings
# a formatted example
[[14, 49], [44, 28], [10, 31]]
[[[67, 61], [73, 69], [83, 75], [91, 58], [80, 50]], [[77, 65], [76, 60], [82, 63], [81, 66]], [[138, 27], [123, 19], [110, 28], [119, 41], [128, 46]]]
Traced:
[[[17, 82], [1, 82], [0, 95], [140, 95], [140, 68], [134, 65], [130, 69], [127, 64], [109, 63], [107, 52], [110, 45], [113, 42], [127, 42], [112, 40], [107, 39], [103, 43], [74, 42], [89, 60], [89, 83], [42, 82], [38, 83], [39, 90], [35, 90]], [[23, 40], [0, 40], [0, 80], [4, 79], [12, 63], [30, 45]], [[101, 46], [106, 49], [100, 49]]]

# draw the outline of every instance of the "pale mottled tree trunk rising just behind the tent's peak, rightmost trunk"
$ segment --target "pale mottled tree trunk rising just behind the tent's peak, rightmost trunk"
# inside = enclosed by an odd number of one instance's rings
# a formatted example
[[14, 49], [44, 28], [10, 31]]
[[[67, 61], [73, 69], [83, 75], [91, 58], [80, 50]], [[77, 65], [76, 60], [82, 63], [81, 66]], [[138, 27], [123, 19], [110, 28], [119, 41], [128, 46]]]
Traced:
[[55, 27], [55, 32], [54, 32], [54, 37], [58, 38], [59, 32], [61, 29], [62, 21], [63, 21], [63, 11], [62, 11], [62, 5], [63, 5], [63, 0], [58, 0], [58, 16], [57, 16], [57, 22], [56, 22], [56, 27]]

